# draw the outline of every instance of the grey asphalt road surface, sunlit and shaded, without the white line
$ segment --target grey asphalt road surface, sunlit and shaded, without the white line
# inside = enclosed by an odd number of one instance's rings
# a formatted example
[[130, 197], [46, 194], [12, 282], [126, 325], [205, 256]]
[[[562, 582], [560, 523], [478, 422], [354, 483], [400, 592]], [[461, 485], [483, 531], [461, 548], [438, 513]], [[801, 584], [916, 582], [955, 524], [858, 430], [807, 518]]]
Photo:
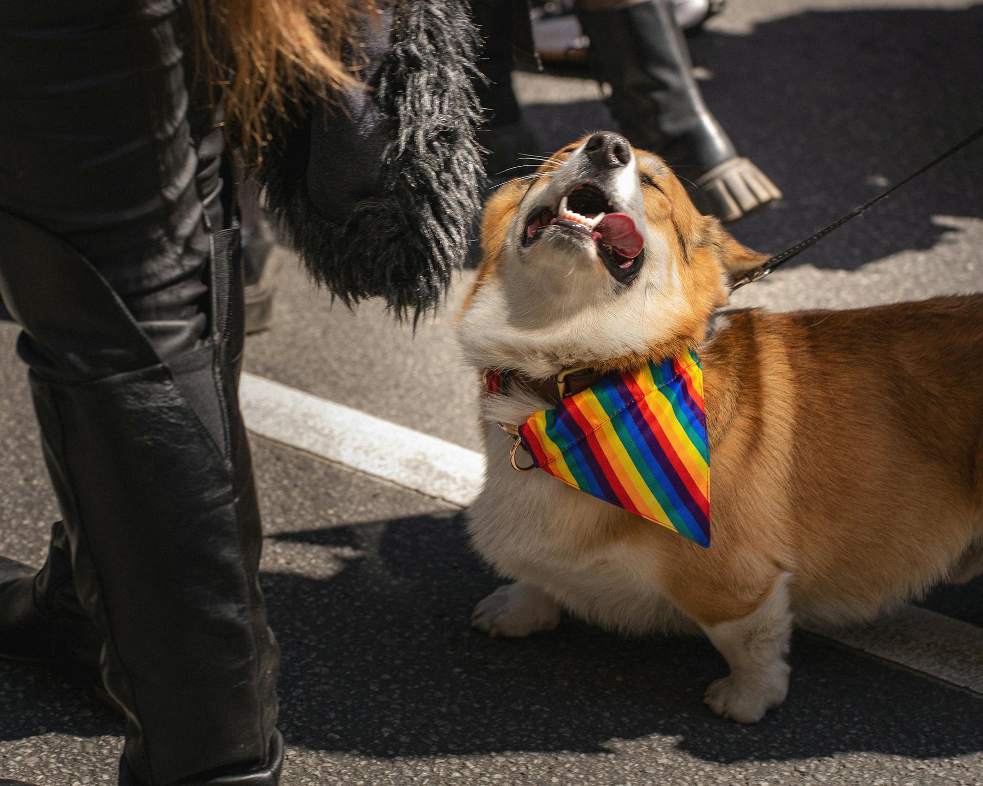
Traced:
[[[983, 5], [729, 0], [691, 41], [708, 103], [784, 192], [733, 227], [777, 252], [983, 125]], [[616, 128], [576, 69], [518, 74], [546, 152]], [[333, 305], [283, 262], [272, 329], [246, 368], [473, 450], [477, 380], [453, 314], [415, 335], [375, 303]], [[983, 143], [735, 294], [736, 307], [854, 308], [983, 290]], [[57, 507], [15, 326], [0, 324], [0, 554], [37, 564]], [[458, 507], [255, 437], [267, 533], [261, 582], [283, 647], [284, 784], [983, 784], [983, 695], [799, 632], [788, 700], [741, 727], [703, 691], [701, 639], [623, 639], [565, 619], [508, 642], [471, 630], [499, 581]], [[983, 628], [983, 582], [923, 604]], [[945, 644], [945, 643], [942, 643]], [[957, 647], [956, 647], [957, 648]], [[983, 673], [983, 651], [966, 650]], [[114, 782], [120, 720], [84, 688], [0, 661], [0, 778]]]

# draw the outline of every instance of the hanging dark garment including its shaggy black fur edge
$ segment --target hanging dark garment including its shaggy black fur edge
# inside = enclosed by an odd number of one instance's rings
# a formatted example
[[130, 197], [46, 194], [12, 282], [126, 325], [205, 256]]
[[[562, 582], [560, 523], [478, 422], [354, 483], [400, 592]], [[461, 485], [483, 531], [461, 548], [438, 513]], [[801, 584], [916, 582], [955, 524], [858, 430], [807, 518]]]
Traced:
[[278, 119], [258, 178], [319, 283], [416, 319], [464, 259], [480, 206], [478, 37], [467, 0], [396, 0], [364, 37], [369, 88]]

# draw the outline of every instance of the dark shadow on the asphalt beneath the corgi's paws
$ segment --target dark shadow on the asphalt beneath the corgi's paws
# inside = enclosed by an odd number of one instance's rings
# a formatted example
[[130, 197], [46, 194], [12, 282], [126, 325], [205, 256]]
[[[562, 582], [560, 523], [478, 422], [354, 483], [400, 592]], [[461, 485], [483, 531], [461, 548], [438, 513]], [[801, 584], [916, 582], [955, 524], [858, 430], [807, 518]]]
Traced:
[[726, 666], [702, 639], [625, 640], [573, 620], [522, 641], [488, 639], [468, 618], [499, 581], [470, 551], [460, 516], [275, 541], [348, 555], [327, 580], [263, 577], [284, 651], [283, 730], [308, 748], [589, 753], [659, 734], [717, 762], [983, 750], [983, 702], [816, 637], [796, 637], [789, 699], [754, 727], [704, 706]]

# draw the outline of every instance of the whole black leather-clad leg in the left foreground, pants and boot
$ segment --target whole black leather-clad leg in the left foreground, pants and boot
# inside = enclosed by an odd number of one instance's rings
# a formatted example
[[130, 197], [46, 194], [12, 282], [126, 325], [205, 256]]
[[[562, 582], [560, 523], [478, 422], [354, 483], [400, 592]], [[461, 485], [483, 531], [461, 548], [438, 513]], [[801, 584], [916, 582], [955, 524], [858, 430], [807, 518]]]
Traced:
[[186, 11], [0, 4], [0, 297], [126, 713], [120, 782], [272, 786], [233, 173]]

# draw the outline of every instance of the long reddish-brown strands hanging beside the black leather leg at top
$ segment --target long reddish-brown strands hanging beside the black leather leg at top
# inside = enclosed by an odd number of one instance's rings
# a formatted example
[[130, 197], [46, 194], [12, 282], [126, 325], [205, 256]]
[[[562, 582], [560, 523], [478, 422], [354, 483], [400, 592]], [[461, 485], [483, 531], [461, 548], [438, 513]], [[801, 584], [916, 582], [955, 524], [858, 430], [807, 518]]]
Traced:
[[378, 13], [374, 0], [189, 0], [189, 8], [199, 68], [209, 87], [222, 87], [235, 143], [250, 162], [262, 157], [270, 112], [359, 83], [361, 58], [345, 42]]

